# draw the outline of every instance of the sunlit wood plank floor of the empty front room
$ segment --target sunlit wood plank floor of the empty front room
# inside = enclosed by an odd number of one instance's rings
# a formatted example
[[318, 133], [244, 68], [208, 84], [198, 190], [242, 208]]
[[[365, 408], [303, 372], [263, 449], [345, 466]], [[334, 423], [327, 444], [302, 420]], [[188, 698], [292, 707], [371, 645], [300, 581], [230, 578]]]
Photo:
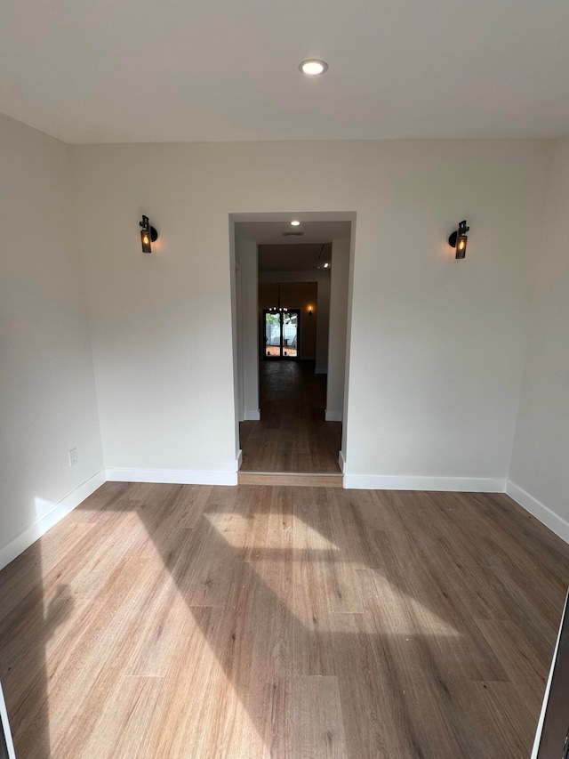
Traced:
[[568, 579], [506, 496], [107, 483], [0, 573], [16, 752], [520, 759]]

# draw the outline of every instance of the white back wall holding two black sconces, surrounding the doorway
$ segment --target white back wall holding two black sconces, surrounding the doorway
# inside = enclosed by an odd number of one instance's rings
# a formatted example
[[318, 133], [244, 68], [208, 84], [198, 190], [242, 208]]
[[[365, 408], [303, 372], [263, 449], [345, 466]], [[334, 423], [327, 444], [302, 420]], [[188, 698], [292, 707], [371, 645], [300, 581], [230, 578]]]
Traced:
[[[228, 214], [340, 210], [357, 213], [350, 484], [503, 484], [548, 150], [504, 140], [74, 146], [108, 466], [235, 469]], [[151, 256], [140, 253], [141, 213], [162, 233]], [[456, 262], [445, 238], [465, 217], [469, 249]]]

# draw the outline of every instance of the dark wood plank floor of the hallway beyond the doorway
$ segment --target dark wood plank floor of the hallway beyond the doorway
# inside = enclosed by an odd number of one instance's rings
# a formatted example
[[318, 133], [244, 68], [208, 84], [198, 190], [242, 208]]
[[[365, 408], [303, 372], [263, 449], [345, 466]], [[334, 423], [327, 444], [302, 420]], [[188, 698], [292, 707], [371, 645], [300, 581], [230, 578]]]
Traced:
[[313, 361], [261, 361], [260, 422], [241, 422], [241, 472], [340, 472], [341, 423], [325, 422]]

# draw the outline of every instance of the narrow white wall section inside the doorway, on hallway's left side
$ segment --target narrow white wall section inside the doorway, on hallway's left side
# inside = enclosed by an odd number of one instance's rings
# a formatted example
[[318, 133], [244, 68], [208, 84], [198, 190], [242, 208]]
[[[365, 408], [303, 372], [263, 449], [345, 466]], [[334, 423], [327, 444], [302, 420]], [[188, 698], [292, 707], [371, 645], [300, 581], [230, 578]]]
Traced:
[[236, 256], [241, 264], [244, 370], [244, 418], [259, 419], [259, 284], [257, 243], [236, 240]]

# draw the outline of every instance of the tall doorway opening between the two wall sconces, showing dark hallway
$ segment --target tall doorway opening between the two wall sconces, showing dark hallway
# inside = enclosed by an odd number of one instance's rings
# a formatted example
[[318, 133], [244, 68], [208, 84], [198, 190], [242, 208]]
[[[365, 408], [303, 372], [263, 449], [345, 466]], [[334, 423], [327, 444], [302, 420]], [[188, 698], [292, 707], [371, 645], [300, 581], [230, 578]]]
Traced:
[[[289, 217], [301, 218], [294, 238]], [[341, 477], [354, 220], [355, 214], [230, 217], [240, 472]]]

